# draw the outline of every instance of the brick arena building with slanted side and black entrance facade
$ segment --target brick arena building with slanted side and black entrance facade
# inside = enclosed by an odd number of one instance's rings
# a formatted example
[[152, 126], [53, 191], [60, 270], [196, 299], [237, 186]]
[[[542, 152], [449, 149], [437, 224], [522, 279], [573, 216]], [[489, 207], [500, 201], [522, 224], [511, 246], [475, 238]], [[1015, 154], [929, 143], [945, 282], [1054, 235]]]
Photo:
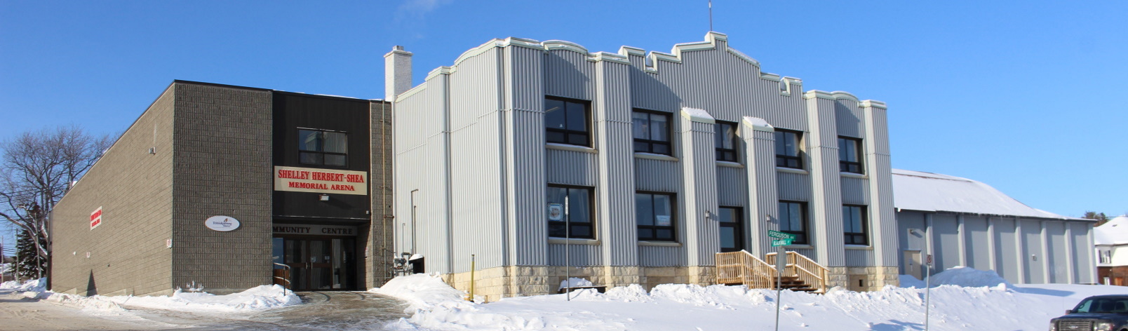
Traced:
[[382, 284], [390, 116], [381, 100], [174, 81], [55, 206], [52, 288]]

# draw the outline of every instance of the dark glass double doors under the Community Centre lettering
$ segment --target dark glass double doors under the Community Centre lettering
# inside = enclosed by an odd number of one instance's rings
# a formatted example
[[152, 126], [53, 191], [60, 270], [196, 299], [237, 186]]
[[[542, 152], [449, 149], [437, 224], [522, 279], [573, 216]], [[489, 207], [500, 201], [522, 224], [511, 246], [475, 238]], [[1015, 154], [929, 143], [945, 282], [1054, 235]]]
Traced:
[[[354, 289], [354, 244], [352, 238], [274, 238], [275, 275], [282, 274], [294, 290]], [[289, 272], [280, 272], [285, 269], [280, 265], [289, 266]]]

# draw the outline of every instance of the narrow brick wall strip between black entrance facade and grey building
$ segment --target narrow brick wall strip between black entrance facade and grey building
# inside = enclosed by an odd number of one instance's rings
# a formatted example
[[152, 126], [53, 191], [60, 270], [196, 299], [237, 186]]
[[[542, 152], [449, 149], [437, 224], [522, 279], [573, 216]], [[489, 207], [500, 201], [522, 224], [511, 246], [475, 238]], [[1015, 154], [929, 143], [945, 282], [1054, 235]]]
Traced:
[[372, 225], [360, 240], [368, 244], [364, 263], [365, 286], [382, 286], [391, 275], [391, 105], [371, 102], [372, 170], [369, 188], [372, 199]]

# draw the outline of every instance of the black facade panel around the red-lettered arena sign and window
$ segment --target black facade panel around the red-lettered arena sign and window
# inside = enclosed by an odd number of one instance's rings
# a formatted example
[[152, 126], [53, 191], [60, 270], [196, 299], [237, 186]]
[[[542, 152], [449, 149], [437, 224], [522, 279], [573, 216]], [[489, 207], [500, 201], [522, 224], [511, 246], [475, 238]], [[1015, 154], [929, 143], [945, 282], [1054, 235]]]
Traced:
[[[275, 91], [274, 166], [369, 172], [369, 110], [368, 100]], [[345, 167], [301, 163], [298, 151], [298, 132], [301, 128], [345, 133], [349, 142]], [[365, 184], [365, 193], [370, 185]], [[274, 217], [294, 221], [370, 220], [368, 209], [371, 202], [368, 195], [329, 194], [327, 202], [320, 200], [320, 195], [275, 190]]]

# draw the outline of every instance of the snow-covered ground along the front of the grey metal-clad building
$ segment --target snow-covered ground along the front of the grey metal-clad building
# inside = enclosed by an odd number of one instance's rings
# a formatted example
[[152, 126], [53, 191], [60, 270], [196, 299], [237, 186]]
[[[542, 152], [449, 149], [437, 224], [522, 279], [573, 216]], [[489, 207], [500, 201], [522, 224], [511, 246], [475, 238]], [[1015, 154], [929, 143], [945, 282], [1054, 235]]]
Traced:
[[[878, 292], [840, 288], [826, 295], [784, 292], [779, 330], [924, 330], [924, 283]], [[1012, 285], [994, 271], [952, 268], [933, 277], [931, 330], [1047, 330], [1090, 295], [1128, 287]], [[908, 281], [911, 283], [911, 281]], [[393, 330], [773, 330], [776, 293], [742, 286], [634, 285], [476, 304], [426, 275], [398, 277], [371, 292], [412, 303]]]

